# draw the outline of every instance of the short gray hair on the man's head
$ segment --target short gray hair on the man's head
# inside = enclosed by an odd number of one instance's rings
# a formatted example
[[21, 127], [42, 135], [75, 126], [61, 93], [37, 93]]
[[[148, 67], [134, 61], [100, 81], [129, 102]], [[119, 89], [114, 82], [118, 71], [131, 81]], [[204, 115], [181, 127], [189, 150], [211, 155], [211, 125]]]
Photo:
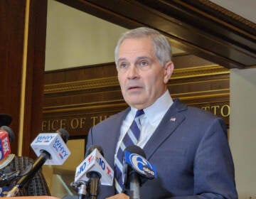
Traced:
[[159, 31], [151, 28], [141, 27], [125, 32], [121, 38], [119, 38], [119, 41], [117, 41], [117, 45], [114, 49], [115, 64], [117, 65], [119, 47], [125, 39], [145, 37], [151, 38], [151, 41], [154, 45], [154, 54], [156, 55], [156, 58], [159, 59], [159, 62], [162, 66], [164, 66], [165, 63], [171, 61], [171, 45], [169, 41], [167, 41], [166, 37], [159, 33]]

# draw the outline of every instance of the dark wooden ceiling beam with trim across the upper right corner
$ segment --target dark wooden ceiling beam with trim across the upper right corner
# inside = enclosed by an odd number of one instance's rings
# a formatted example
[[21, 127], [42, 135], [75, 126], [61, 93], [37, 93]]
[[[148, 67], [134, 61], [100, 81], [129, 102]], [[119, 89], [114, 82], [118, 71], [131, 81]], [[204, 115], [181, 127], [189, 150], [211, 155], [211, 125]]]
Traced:
[[155, 28], [175, 48], [225, 68], [256, 66], [255, 0], [57, 1], [124, 28]]

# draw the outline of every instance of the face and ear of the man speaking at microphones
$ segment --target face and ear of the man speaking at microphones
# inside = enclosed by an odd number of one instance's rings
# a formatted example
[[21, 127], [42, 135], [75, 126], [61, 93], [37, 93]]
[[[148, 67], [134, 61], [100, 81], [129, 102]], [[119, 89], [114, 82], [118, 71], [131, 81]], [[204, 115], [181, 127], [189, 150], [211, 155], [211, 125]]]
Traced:
[[160, 65], [149, 38], [129, 38], [119, 47], [118, 80], [131, 107], [144, 109], [163, 95], [173, 69], [171, 61]]

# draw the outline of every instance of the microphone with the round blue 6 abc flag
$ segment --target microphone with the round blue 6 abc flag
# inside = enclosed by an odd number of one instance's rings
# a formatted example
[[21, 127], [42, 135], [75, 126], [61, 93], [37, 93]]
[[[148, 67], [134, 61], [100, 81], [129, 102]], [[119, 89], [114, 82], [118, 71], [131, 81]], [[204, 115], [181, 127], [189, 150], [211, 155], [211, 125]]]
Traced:
[[129, 190], [129, 198], [139, 199], [139, 188], [147, 179], [156, 178], [156, 167], [146, 160], [146, 154], [136, 145], [124, 149], [123, 165], [122, 177], [125, 188]]

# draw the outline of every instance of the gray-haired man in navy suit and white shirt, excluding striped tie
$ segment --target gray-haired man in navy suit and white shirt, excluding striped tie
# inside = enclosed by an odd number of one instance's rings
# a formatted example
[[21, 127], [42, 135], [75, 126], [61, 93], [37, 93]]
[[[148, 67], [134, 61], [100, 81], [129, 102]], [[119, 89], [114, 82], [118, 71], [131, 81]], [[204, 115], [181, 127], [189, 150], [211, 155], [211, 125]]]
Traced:
[[[151, 28], [127, 31], [115, 49], [118, 80], [129, 108], [90, 129], [87, 149], [102, 146], [112, 168], [137, 110], [143, 109], [137, 146], [156, 166], [141, 198], [238, 198], [225, 124], [210, 112], [173, 100], [171, 46]], [[115, 177], [116, 173], [114, 174]], [[101, 186], [98, 198], [129, 198], [122, 185]]]

